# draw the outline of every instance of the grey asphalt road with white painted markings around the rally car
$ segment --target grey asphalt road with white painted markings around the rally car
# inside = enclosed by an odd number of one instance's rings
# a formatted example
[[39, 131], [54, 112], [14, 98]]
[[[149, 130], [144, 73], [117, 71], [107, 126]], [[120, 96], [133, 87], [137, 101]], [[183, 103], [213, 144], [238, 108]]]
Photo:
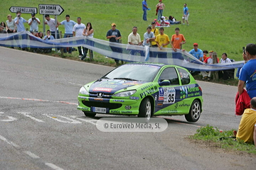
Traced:
[[[201, 146], [201, 126], [237, 129], [235, 86], [198, 81], [197, 123], [164, 117], [164, 132], [101, 132], [76, 109], [80, 87], [112, 67], [0, 47], [0, 169], [254, 169], [255, 156]], [[110, 59], [111, 60], [111, 59]]]

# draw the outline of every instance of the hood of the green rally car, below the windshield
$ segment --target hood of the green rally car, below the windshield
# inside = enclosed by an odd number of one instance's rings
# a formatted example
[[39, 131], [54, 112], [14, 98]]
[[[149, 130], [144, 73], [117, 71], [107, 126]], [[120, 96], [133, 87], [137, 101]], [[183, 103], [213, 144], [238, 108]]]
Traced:
[[114, 94], [116, 91], [125, 89], [131, 86], [142, 86], [148, 83], [146, 81], [127, 81], [120, 79], [99, 79], [93, 82], [90, 86], [90, 94], [102, 92], [104, 94]]

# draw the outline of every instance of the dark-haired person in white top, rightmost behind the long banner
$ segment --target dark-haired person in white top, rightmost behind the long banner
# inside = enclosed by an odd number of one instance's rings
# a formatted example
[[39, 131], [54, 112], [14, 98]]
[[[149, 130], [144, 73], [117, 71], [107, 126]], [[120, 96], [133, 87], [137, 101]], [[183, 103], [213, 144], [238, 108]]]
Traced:
[[[227, 53], [223, 53], [220, 59], [220, 63], [231, 63], [231, 60], [228, 58]], [[223, 79], [223, 80], [227, 80], [227, 79], [234, 79], [234, 72], [235, 69], [225, 69], [225, 70], [220, 70], [218, 72], [219, 74], [219, 78]]]

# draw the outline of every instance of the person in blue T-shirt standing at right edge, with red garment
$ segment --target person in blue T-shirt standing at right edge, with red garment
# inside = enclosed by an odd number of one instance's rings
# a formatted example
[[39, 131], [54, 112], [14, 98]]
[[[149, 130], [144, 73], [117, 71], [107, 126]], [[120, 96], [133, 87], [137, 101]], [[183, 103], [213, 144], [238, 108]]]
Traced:
[[238, 92], [242, 94], [244, 85], [250, 98], [256, 97], [256, 45], [248, 44], [243, 53], [243, 58], [247, 62], [239, 74]]

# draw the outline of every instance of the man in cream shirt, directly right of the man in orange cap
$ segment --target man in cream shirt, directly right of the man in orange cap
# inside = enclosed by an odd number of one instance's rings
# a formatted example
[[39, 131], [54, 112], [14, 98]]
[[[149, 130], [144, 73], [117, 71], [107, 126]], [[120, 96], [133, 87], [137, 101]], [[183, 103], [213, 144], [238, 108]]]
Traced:
[[[142, 45], [142, 40], [140, 38], [139, 33], [137, 33], [137, 27], [132, 28], [132, 33], [129, 34], [128, 36], [128, 43], [129, 45]], [[132, 50], [131, 55], [135, 55], [136, 52], [139, 52], [141, 56], [144, 56], [144, 51], [143, 50]]]

